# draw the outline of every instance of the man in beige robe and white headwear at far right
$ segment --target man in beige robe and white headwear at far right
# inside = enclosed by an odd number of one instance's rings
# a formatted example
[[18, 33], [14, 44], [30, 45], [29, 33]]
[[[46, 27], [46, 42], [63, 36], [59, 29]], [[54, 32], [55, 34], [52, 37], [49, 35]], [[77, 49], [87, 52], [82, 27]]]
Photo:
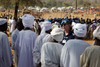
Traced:
[[100, 26], [94, 32], [95, 43], [81, 55], [80, 67], [100, 67]]

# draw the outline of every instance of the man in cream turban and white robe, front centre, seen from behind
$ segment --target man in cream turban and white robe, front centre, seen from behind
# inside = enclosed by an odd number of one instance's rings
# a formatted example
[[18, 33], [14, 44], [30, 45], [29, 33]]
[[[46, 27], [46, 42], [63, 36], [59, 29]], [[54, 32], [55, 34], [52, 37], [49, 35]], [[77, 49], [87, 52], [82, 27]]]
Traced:
[[[63, 30], [55, 28], [51, 32], [52, 42], [43, 44], [41, 49], [41, 67], [60, 67], [60, 55], [62, 45], [60, 41], [63, 39]], [[47, 40], [49, 40], [47, 38]]]

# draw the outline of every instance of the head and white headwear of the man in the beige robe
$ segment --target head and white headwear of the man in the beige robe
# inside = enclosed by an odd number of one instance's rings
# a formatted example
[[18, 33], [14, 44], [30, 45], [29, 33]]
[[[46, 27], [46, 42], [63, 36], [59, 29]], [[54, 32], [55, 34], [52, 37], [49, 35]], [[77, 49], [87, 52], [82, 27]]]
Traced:
[[94, 32], [93, 32], [93, 36], [95, 38], [95, 45], [99, 45], [100, 46], [100, 26], [98, 26]]

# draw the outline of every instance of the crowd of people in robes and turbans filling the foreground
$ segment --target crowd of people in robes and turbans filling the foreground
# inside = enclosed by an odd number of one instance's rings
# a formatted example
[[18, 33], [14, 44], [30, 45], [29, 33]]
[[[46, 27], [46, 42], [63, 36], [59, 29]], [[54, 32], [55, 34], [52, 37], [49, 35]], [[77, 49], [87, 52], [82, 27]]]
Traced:
[[0, 67], [99, 67], [99, 45], [100, 19], [0, 19]]

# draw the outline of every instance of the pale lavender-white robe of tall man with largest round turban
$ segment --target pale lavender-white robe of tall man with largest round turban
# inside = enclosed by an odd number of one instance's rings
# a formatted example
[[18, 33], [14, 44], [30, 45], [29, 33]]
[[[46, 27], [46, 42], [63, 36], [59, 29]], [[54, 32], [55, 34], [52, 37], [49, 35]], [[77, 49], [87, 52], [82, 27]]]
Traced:
[[16, 40], [15, 50], [18, 54], [18, 67], [34, 67], [32, 49], [37, 35], [31, 30], [22, 30]]

